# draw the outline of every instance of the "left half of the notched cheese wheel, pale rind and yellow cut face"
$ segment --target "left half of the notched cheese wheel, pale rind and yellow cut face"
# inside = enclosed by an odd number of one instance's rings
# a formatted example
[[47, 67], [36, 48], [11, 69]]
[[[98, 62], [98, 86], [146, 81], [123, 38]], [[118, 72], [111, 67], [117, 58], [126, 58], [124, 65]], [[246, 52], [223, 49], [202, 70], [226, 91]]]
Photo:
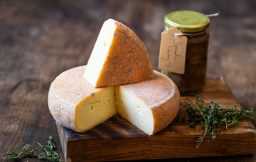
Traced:
[[114, 86], [94, 88], [84, 78], [85, 66], [60, 74], [51, 84], [48, 106], [64, 127], [85, 132], [117, 114]]

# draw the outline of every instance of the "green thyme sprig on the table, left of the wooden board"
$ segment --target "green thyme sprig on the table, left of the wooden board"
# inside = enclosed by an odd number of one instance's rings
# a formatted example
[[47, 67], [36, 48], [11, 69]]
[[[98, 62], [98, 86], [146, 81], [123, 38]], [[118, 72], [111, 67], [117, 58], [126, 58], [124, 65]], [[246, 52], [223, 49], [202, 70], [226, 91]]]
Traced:
[[54, 148], [56, 148], [54, 142], [53, 142], [53, 138], [52, 137], [49, 137], [49, 140], [46, 141], [46, 144], [47, 144], [47, 148], [50, 149], [50, 151], [47, 151], [46, 148], [40, 144], [38, 142], [39, 146], [41, 146], [41, 148], [46, 151], [46, 152], [42, 152], [42, 153], [39, 153], [39, 152], [36, 152], [39, 150], [39, 147], [38, 146], [34, 146], [33, 149], [31, 151], [29, 151], [29, 147], [31, 146], [30, 144], [26, 144], [25, 146], [23, 146], [23, 148], [21, 149], [21, 152], [20, 153], [16, 153], [15, 149], [13, 151], [10, 152], [10, 154], [4, 154], [4, 155], [0, 155], [1, 156], [7, 156], [9, 158], [11, 158], [11, 160], [16, 160], [18, 158], [21, 158], [21, 155], [29, 155], [29, 156], [32, 156], [33, 158], [34, 157], [38, 157], [39, 159], [41, 160], [47, 160], [47, 161], [57, 161], [57, 162], [60, 162], [60, 157], [58, 156], [58, 154], [53, 151]]

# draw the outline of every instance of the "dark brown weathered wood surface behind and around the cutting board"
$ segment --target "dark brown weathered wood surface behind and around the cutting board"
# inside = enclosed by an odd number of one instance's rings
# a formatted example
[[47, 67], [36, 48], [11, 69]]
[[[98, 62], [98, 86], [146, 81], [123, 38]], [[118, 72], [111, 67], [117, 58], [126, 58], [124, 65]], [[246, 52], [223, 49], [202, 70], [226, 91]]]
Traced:
[[[0, 1], [0, 154], [51, 135], [50, 82], [87, 64], [102, 23], [121, 21], [144, 41], [157, 69], [163, 18], [177, 10], [220, 12], [210, 18], [208, 76], [221, 75], [243, 108], [256, 110], [256, 1]], [[0, 161], [9, 161], [0, 158]], [[23, 158], [21, 161], [38, 161]], [[164, 161], [256, 161], [253, 156]]]

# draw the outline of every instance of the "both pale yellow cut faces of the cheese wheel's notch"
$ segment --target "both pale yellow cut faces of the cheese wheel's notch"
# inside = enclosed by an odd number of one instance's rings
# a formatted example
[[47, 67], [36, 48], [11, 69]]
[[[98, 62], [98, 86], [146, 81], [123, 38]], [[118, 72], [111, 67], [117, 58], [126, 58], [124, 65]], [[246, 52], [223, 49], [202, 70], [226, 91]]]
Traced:
[[107, 86], [84, 98], [75, 109], [75, 127], [85, 132], [117, 113], [146, 134], [152, 134], [151, 108], [121, 86]]

